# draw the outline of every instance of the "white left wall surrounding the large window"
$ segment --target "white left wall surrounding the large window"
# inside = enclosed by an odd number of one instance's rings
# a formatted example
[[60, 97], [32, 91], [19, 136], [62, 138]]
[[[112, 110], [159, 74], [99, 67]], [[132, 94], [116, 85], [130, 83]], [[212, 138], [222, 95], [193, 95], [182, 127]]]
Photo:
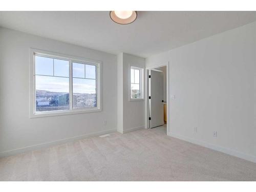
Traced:
[[[101, 60], [102, 112], [30, 119], [29, 48]], [[116, 55], [0, 28], [0, 156], [17, 148], [115, 131], [116, 117]]]

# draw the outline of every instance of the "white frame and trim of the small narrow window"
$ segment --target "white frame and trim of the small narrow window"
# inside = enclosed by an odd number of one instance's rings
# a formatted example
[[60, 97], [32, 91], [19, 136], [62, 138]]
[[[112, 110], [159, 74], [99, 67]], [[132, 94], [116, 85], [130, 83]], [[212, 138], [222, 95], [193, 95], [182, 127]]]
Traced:
[[[131, 95], [131, 70], [140, 70], [140, 91], [141, 91], [141, 98], [132, 98]], [[129, 67], [129, 101], [144, 101], [144, 69], [139, 67]]]

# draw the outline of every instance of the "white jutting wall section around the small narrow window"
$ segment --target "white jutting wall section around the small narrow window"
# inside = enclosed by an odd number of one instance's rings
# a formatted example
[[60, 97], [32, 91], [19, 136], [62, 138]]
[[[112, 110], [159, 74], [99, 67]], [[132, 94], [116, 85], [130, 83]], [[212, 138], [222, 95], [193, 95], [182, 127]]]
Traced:
[[145, 68], [142, 57], [120, 53], [118, 55], [118, 127], [117, 131], [126, 133], [145, 127], [145, 101], [129, 101], [130, 67]]

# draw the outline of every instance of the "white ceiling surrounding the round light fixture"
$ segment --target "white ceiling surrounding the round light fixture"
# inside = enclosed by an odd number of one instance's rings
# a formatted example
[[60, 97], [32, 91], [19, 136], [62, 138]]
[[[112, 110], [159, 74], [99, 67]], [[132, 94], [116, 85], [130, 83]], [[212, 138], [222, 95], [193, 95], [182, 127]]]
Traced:
[[118, 25], [108, 11], [0, 12], [0, 26], [100, 51], [142, 57], [227, 31], [256, 20], [256, 12], [138, 11]]

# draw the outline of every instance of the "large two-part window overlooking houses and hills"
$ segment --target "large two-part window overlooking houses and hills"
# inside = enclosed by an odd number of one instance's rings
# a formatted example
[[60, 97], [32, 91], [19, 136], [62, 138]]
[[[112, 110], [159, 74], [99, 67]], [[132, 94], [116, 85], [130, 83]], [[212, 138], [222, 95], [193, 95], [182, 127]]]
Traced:
[[100, 111], [99, 62], [33, 51], [32, 67], [31, 117]]

